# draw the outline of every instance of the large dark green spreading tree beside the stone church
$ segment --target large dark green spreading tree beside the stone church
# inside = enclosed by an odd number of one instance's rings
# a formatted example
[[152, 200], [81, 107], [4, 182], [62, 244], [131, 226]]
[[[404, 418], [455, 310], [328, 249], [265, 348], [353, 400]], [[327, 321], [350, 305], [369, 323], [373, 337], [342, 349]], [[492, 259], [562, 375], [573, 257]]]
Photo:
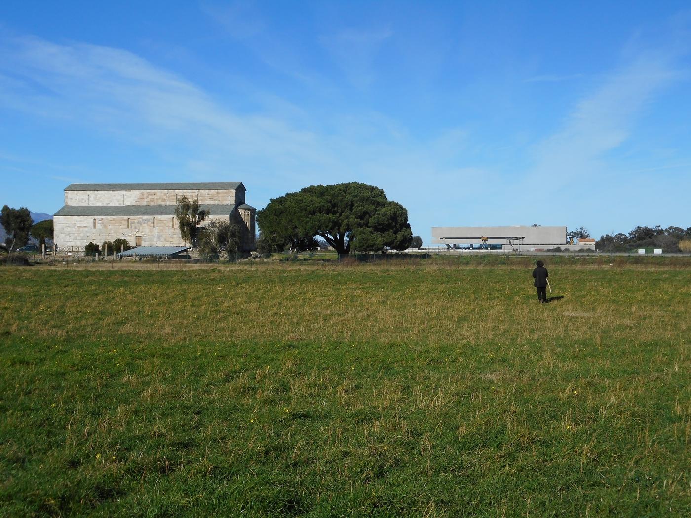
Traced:
[[323, 238], [339, 255], [404, 250], [413, 233], [408, 211], [378, 187], [359, 182], [313, 185], [271, 200], [257, 222], [274, 250], [315, 249]]

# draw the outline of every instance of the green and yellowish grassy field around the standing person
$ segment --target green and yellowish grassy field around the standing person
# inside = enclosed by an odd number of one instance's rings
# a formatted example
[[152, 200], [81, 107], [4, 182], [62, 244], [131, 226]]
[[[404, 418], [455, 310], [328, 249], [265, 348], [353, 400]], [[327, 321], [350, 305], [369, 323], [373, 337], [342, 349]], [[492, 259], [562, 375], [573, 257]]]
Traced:
[[0, 515], [688, 516], [691, 266], [528, 261], [0, 268]]

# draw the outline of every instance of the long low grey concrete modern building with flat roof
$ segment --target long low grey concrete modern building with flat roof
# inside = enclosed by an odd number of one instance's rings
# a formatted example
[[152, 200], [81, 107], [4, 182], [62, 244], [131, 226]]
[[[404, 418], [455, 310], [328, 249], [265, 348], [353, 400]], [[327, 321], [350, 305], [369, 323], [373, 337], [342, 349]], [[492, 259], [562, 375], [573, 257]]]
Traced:
[[498, 250], [567, 247], [566, 227], [432, 227], [433, 244]]

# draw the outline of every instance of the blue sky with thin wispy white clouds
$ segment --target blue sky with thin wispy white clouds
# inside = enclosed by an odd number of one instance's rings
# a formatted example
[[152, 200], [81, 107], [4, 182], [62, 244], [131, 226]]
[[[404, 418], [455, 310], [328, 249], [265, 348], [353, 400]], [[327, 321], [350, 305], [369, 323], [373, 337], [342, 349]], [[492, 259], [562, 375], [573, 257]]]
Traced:
[[70, 182], [357, 180], [430, 227], [691, 226], [691, 8], [0, 3], [0, 204]]

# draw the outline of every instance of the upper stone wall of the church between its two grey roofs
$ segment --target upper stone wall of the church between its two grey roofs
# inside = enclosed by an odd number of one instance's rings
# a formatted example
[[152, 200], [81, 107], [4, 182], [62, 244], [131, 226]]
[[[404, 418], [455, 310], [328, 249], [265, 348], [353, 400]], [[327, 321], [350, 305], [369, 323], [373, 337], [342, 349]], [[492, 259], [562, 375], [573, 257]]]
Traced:
[[197, 198], [201, 204], [245, 203], [243, 189], [176, 191], [65, 191], [66, 205], [176, 205], [178, 198]]

